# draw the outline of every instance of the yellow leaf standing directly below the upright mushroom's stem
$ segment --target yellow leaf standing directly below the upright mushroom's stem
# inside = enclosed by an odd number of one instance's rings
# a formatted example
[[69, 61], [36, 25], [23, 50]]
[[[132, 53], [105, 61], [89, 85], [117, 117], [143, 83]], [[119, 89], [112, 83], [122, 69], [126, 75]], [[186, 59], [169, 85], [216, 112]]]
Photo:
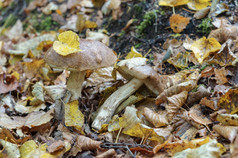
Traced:
[[65, 125], [72, 126], [75, 129], [82, 131], [84, 124], [84, 115], [78, 109], [78, 100], [65, 104]]

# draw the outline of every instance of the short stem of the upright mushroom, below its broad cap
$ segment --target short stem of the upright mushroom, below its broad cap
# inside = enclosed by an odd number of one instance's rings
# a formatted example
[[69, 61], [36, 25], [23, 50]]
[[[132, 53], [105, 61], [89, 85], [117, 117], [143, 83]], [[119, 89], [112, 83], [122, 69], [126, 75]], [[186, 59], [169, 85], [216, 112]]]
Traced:
[[71, 101], [77, 100], [81, 97], [82, 84], [85, 78], [86, 71], [71, 71], [68, 81], [67, 89], [72, 94]]

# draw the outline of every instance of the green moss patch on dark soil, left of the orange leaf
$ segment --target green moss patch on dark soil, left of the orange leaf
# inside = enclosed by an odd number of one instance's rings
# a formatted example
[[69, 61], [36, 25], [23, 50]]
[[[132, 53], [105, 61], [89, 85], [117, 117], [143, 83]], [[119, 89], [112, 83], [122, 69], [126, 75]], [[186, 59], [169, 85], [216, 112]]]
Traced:
[[144, 30], [152, 25], [156, 21], [156, 13], [157, 10], [151, 10], [148, 11], [144, 16], [143, 16], [143, 21], [139, 24], [139, 26], [136, 27], [136, 32], [139, 36], [141, 36], [144, 32]]

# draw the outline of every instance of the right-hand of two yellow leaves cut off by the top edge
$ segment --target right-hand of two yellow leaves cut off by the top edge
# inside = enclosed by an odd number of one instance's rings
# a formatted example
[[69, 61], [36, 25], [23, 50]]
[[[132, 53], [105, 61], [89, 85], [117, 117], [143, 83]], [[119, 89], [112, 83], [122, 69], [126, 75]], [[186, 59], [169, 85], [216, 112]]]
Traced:
[[207, 6], [211, 6], [211, 0], [190, 0], [187, 5], [189, 9], [201, 10]]

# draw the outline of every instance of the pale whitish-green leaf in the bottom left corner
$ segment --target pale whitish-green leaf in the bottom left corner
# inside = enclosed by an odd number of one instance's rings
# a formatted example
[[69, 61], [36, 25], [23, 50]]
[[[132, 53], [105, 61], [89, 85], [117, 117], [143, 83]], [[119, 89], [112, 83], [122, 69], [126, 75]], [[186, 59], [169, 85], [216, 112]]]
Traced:
[[7, 154], [3, 157], [19, 158], [21, 156], [17, 144], [10, 143], [3, 139], [0, 139], [0, 144], [3, 146], [1, 153], [5, 153], [4, 151], [7, 152]]

